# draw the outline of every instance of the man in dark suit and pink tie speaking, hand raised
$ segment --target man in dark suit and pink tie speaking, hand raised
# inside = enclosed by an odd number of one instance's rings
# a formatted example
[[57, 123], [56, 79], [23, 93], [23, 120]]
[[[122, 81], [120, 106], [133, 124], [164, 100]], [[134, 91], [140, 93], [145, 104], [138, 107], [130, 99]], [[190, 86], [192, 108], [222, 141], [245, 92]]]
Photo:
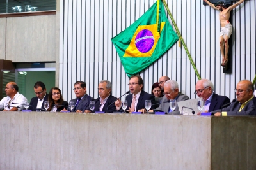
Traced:
[[[155, 96], [148, 94], [143, 90], [143, 80], [141, 76], [131, 76], [129, 81], [129, 89], [132, 94], [126, 96], [127, 110], [129, 113], [139, 111], [145, 108], [145, 100], [151, 100], [151, 103], [155, 103]], [[120, 99], [115, 101], [116, 110], [120, 110], [121, 101]], [[154, 108], [154, 106], [152, 106]]]

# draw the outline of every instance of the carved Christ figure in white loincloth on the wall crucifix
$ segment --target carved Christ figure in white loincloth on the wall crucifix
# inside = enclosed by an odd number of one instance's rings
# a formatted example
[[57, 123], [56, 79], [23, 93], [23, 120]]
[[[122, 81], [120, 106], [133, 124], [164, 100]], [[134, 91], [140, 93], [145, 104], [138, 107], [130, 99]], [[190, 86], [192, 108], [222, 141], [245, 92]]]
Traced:
[[[230, 18], [230, 12], [236, 8], [239, 4], [243, 3], [244, 0], [240, 0], [237, 3], [227, 7], [224, 5], [224, 2], [220, 1], [216, 3], [215, 5], [210, 3], [207, 0], [204, 0], [205, 3], [209, 4], [212, 8], [216, 10], [220, 10], [220, 25], [221, 25], [221, 31], [220, 31], [220, 50], [222, 55], [222, 62], [221, 66], [225, 67], [227, 66], [228, 62], [228, 39], [230, 38], [230, 35], [232, 34], [232, 25], [228, 21]], [[224, 48], [225, 46], [225, 48]]]

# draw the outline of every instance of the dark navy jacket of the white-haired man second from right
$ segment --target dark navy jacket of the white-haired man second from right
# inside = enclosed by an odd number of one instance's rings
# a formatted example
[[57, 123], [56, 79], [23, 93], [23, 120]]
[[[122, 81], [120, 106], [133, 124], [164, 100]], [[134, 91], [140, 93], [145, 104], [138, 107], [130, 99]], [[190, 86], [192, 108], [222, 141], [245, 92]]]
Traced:
[[230, 103], [230, 99], [226, 96], [220, 96], [216, 93], [212, 95], [211, 104], [209, 106], [208, 112], [219, 110], [221, 109], [221, 106], [224, 104]]

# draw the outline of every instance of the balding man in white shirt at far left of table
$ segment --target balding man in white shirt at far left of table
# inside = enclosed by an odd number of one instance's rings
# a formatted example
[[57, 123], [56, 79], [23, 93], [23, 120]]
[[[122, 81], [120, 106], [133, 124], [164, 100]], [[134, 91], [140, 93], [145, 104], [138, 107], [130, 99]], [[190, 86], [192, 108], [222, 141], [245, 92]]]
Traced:
[[[5, 87], [6, 97], [0, 101], [0, 110], [3, 111], [20, 111], [23, 109], [22, 104], [26, 104], [27, 99], [19, 93], [19, 87], [15, 82], [7, 83]], [[13, 104], [12, 104], [13, 103]]]

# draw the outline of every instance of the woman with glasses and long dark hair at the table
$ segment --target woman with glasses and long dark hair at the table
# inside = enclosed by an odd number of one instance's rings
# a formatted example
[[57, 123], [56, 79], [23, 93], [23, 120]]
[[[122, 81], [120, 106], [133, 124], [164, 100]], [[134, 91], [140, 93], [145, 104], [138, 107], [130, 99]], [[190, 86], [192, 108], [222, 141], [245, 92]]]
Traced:
[[49, 108], [47, 111], [52, 111], [54, 108], [54, 105], [64, 105], [64, 106], [57, 106], [56, 111], [61, 111], [64, 108], [67, 109], [68, 103], [67, 101], [63, 101], [63, 97], [61, 94], [61, 90], [58, 87], [52, 87], [52, 89], [49, 92]]

